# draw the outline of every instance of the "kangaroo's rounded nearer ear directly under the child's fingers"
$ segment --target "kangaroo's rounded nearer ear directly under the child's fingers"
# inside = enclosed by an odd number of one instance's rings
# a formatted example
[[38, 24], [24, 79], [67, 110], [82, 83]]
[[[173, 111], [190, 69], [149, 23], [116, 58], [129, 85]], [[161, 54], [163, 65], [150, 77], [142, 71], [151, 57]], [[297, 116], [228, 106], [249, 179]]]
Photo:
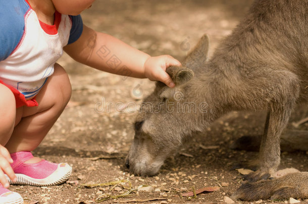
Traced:
[[185, 84], [194, 75], [192, 70], [183, 66], [170, 66], [166, 72], [170, 75], [176, 86]]

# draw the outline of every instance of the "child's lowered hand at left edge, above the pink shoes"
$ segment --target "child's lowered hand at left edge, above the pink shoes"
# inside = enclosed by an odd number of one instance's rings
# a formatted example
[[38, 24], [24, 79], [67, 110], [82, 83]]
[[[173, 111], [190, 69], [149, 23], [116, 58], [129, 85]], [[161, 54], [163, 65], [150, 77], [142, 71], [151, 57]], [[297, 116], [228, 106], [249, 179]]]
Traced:
[[4, 174], [7, 174], [12, 181], [16, 181], [17, 179], [10, 163], [13, 163], [13, 160], [9, 151], [7, 148], [0, 145], [0, 183], [2, 183], [5, 188], [8, 188], [10, 184]]

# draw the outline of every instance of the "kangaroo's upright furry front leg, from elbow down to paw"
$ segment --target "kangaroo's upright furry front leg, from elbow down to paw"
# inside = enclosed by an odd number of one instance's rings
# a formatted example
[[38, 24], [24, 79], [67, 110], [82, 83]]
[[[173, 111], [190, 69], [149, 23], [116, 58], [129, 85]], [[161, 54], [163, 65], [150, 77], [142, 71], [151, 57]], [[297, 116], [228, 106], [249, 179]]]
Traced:
[[[280, 137], [296, 105], [299, 93], [298, 79], [289, 72], [274, 72], [264, 92], [271, 96], [268, 103], [264, 134], [261, 140], [259, 170], [249, 174], [246, 180], [254, 182], [273, 175], [280, 163]], [[277, 81], [275, 81], [277, 80]]]

